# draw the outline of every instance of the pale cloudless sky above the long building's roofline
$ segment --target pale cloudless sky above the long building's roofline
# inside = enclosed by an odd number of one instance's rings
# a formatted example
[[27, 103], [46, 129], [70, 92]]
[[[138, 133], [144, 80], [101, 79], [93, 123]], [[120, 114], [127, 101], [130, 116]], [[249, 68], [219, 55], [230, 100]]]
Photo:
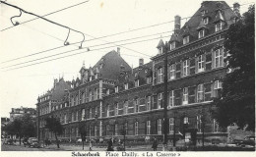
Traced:
[[[6, 0], [6, 2], [43, 16], [84, 0]], [[139, 65], [140, 58], [143, 58], [145, 63], [150, 62], [150, 58], [158, 52], [156, 46], [160, 38], [164, 42], [169, 40], [174, 27], [172, 23], [174, 16], [191, 17], [202, 2], [199, 0], [90, 0], [44, 17], [62, 26], [41, 19], [13, 26], [10, 18], [18, 16], [19, 10], [0, 4], [0, 117], [10, 117], [11, 108], [21, 106], [35, 108], [38, 95], [51, 89], [54, 78], [65, 80], [77, 78], [83, 63], [86, 68], [93, 67], [104, 54], [116, 50], [117, 47], [120, 47], [121, 56], [133, 68]], [[253, 0], [226, 1], [230, 7], [234, 2], [242, 5], [240, 13], [244, 13], [249, 7], [248, 3]], [[21, 17], [13, 18], [13, 21], [23, 23], [33, 18], [23, 13]], [[188, 20], [182, 20], [181, 26]], [[3, 30], [10, 26], [13, 27]], [[64, 46], [69, 29], [63, 26], [71, 28], [67, 41], [78, 44]], [[86, 41], [83, 42], [82, 49], [78, 47], [83, 35], [74, 30], [85, 34]], [[141, 36], [144, 37], [138, 38]], [[131, 40], [136, 37], [137, 39]], [[141, 40], [148, 41], [138, 42]], [[56, 49], [43, 52], [53, 48]], [[91, 51], [88, 51], [88, 48]], [[32, 55], [38, 52], [40, 53]], [[60, 53], [62, 54], [59, 55]], [[80, 54], [73, 55], [76, 53]], [[24, 57], [28, 55], [32, 56]], [[66, 57], [56, 60], [64, 56]], [[42, 63], [38, 64], [39, 62]]]

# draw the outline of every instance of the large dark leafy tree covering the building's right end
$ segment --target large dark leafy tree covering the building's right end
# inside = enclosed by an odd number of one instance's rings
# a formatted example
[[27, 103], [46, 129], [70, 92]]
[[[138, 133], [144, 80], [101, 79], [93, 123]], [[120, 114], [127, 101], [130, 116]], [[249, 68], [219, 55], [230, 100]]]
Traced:
[[255, 28], [254, 5], [229, 26], [224, 48], [230, 73], [224, 77], [222, 97], [214, 103], [215, 118], [221, 127], [236, 124], [239, 129], [255, 129]]

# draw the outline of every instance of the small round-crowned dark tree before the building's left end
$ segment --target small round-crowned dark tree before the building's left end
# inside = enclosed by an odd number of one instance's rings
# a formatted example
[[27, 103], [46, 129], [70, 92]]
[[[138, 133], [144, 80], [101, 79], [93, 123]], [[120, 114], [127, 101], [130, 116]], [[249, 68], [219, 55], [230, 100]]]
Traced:
[[45, 122], [45, 128], [54, 133], [56, 144], [59, 148], [59, 140], [57, 135], [60, 135], [63, 132], [63, 127], [61, 126], [60, 121], [54, 117], [48, 117], [45, 119]]

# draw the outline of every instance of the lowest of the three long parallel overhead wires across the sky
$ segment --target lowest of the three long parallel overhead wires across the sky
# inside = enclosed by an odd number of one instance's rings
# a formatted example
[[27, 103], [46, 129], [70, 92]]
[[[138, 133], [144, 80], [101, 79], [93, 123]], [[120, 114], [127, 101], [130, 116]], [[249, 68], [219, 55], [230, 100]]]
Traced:
[[[169, 35], [161, 36], [161, 37], [169, 37]], [[160, 39], [161, 37], [156, 37], [156, 38], [151, 38], [151, 39], [146, 39], [146, 40], [140, 40], [140, 41], [134, 41], [134, 42], [124, 43], [124, 44], [120, 44], [120, 45], [128, 45], [128, 44], [134, 44], [134, 43], [145, 42], [145, 41], [150, 41], [150, 40], [156, 40], [156, 39]], [[79, 54], [84, 54], [84, 53], [88, 53], [88, 52], [92, 52], [92, 51], [96, 51], [96, 50], [101, 50], [101, 49], [106, 49], [106, 48], [112, 48], [112, 47], [115, 47], [115, 46], [108, 46], [108, 47], [93, 49], [93, 50], [90, 50], [90, 51], [78, 52], [78, 53], [75, 53], [75, 54], [70, 54], [70, 55], [67, 55], [67, 56], [59, 57], [59, 58], [54, 58], [54, 59], [50, 59], [50, 60], [46, 60], [46, 61], [37, 62], [37, 63], [31, 64], [31, 65], [26, 65], [26, 66], [22, 66], [22, 67], [13, 68], [13, 69], [8, 69], [8, 70], [3, 71], [3, 72], [8, 72], [8, 71], [13, 71], [13, 70], [17, 70], [17, 69], [26, 68], [26, 67], [31, 67], [31, 66], [46, 63], [46, 62], [59, 60], [59, 59], [62, 59], [62, 58], [67, 58], [67, 57], [71, 57], [71, 56], [75, 56], [75, 55], [79, 55]]]

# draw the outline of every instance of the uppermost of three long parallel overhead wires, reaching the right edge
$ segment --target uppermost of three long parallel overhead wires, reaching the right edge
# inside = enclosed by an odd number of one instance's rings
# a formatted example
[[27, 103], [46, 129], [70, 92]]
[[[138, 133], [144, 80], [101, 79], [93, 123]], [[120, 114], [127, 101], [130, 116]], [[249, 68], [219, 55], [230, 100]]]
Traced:
[[[2, 2], [2, 1], [0, 1], [0, 2]], [[249, 4], [254, 4], [254, 2], [244, 3], [244, 4], [241, 4], [240, 6], [245, 6], [245, 5], [249, 5]], [[224, 8], [223, 10], [230, 9], [230, 8], [232, 8], [232, 7]], [[53, 13], [49, 13], [47, 15], [50, 15], [50, 14], [53, 14]], [[45, 17], [47, 15], [44, 15], [42, 17]], [[198, 16], [200, 16], [200, 15], [198, 15]], [[192, 16], [192, 17], [195, 17], [195, 16]], [[185, 17], [185, 18], [182, 18], [181, 20], [187, 20], [187, 19], [192, 18], [192, 17]], [[38, 18], [36, 18], [36, 19], [38, 19]], [[163, 25], [163, 24], [168, 24], [168, 23], [173, 23], [173, 22], [174, 21], [169, 21], [169, 22], [165, 22], [165, 23], [161, 23], [161, 24], [153, 25], [153, 26], [160, 26], [160, 25]], [[139, 28], [130, 29], [130, 30], [126, 30], [126, 31], [121, 31], [121, 32], [118, 32], [118, 33], [113, 33], [113, 34], [110, 34], [110, 35], [104, 35], [104, 36], [96, 37], [95, 39], [89, 39], [89, 40], [85, 40], [85, 41], [92, 41], [92, 40], [96, 40], [96, 39], [99, 39], [99, 38], [109, 37], [109, 36], [113, 36], [113, 35], [117, 35], [117, 34], [121, 34], [121, 33], [125, 33], [125, 32], [130, 32], [130, 31], [135, 31], [135, 30], [139, 30], [139, 29], [143, 29], [143, 28], [147, 28], [147, 27], [152, 27], [152, 26], [144, 26], [144, 27], [139, 27]], [[77, 44], [77, 43], [80, 43], [80, 42], [74, 42], [72, 44]], [[7, 60], [7, 61], [4, 61], [4, 62], [1, 62], [0, 64], [12, 62], [12, 61], [19, 60], [19, 59], [22, 59], [22, 58], [31, 57], [33, 55], [37, 55], [37, 54], [40, 54], [40, 53], [52, 51], [52, 50], [59, 49], [59, 48], [62, 48], [62, 47], [64, 47], [64, 46], [58, 46], [58, 47], [54, 47], [54, 48], [51, 48], [51, 49], [43, 50], [43, 51], [40, 51], [40, 52], [37, 52], [37, 53], [33, 53], [31, 55], [27, 55], [27, 56], [15, 58], [15, 59]]]

